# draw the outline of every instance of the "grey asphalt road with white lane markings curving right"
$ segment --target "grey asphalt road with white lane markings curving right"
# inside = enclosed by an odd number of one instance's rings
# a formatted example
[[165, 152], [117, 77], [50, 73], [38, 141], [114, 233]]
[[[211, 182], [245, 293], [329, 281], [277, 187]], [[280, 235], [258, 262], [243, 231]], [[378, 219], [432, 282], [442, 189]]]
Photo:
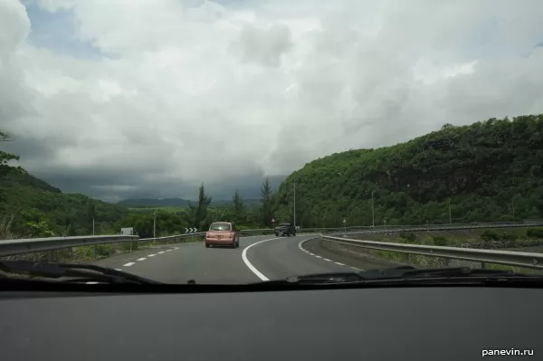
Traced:
[[318, 242], [309, 241], [315, 237], [316, 234], [242, 237], [237, 249], [205, 248], [203, 242], [157, 245], [94, 264], [161, 282], [195, 280], [200, 284], [242, 284], [308, 273], [376, 267], [375, 261], [348, 260], [333, 252], [317, 250]]

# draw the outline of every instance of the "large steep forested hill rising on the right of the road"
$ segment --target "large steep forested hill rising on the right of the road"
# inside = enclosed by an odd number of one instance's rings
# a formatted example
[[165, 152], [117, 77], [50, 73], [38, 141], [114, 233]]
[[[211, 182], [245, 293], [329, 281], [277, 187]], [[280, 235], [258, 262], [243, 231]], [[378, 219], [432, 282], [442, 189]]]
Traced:
[[[274, 196], [303, 226], [511, 221], [543, 215], [543, 116], [488, 119], [310, 162]], [[450, 208], [449, 208], [450, 203]]]

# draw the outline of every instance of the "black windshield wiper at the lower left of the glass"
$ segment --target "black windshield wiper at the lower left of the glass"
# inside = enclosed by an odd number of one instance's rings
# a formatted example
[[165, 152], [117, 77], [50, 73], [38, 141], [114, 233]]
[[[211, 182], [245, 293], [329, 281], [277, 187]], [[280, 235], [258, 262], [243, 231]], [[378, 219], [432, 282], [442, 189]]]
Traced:
[[148, 280], [134, 274], [117, 271], [93, 264], [51, 263], [43, 261], [0, 261], [0, 271], [6, 273], [26, 274], [47, 279], [62, 279], [62, 282], [98, 282], [98, 283], [138, 283], [159, 284], [156, 280]]

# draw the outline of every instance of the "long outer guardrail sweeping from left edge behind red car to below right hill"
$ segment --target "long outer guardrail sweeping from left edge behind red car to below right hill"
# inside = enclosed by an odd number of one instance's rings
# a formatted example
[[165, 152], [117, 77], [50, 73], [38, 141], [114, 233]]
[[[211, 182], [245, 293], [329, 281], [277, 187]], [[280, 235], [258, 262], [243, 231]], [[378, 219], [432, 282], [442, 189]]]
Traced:
[[[404, 225], [404, 226], [387, 226], [376, 230], [377, 227], [367, 226], [351, 226], [338, 228], [302, 228], [297, 233], [335, 233], [346, 234], [368, 234], [368, 233], [399, 233], [402, 231], [426, 231], [426, 230], [452, 230], [452, 229], [476, 229], [476, 228], [508, 228], [508, 227], [526, 227], [538, 226], [543, 223], [476, 223], [476, 224], [428, 224], [425, 226], [419, 225]], [[395, 229], [390, 228], [395, 227]], [[417, 228], [418, 227], [418, 228]], [[251, 235], [254, 233], [273, 233], [273, 229], [253, 229], [240, 230], [242, 235]], [[75, 236], [75, 237], [50, 237], [50, 238], [31, 238], [20, 240], [0, 240], [0, 257], [12, 256], [17, 254], [47, 252], [62, 250], [71, 247], [90, 246], [97, 244], [118, 243], [118, 242], [166, 242], [171, 240], [182, 240], [191, 237], [202, 237], [205, 232], [177, 234], [167, 237], [157, 238], [139, 238], [137, 235], [97, 235], [97, 236]], [[323, 235], [321, 234], [321, 237]], [[366, 241], [365, 241], [366, 242]], [[466, 249], [463, 249], [466, 250]], [[533, 254], [533, 253], [530, 253]]]

